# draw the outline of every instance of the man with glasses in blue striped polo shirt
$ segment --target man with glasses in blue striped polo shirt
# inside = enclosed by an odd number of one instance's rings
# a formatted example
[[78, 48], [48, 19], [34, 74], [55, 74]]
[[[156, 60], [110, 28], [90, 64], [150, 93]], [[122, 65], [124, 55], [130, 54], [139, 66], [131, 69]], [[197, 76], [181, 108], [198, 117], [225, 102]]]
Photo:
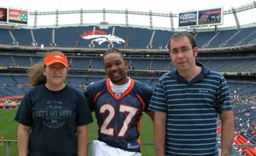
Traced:
[[170, 38], [176, 69], [157, 82], [149, 110], [155, 111], [156, 155], [218, 155], [216, 117], [221, 120], [221, 155], [229, 155], [234, 114], [226, 79], [196, 62], [194, 37], [178, 32]]

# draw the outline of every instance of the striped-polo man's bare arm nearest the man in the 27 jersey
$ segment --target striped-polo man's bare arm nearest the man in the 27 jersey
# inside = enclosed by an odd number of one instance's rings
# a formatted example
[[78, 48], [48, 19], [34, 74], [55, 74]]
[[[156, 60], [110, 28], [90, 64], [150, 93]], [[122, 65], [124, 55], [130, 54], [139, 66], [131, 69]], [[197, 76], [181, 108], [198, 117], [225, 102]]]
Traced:
[[166, 113], [154, 113], [154, 149], [156, 156], [165, 156]]

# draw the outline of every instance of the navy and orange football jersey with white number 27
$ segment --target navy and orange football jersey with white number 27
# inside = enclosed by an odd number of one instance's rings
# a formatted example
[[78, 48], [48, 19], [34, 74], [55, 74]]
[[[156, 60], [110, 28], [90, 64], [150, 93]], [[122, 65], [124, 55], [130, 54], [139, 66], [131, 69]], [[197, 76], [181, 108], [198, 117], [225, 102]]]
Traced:
[[152, 87], [133, 79], [120, 97], [111, 90], [110, 79], [88, 86], [84, 95], [96, 114], [99, 141], [126, 151], [141, 152], [140, 121], [142, 111], [149, 111], [152, 92]]

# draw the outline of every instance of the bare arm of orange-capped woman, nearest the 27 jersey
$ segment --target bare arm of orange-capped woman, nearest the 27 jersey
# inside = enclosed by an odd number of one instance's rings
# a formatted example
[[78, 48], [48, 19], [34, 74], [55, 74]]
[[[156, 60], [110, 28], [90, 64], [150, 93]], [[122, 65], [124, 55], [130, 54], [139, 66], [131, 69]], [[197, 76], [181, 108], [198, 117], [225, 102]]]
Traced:
[[85, 156], [87, 152], [87, 125], [77, 126], [78, 131], [78, 156]]

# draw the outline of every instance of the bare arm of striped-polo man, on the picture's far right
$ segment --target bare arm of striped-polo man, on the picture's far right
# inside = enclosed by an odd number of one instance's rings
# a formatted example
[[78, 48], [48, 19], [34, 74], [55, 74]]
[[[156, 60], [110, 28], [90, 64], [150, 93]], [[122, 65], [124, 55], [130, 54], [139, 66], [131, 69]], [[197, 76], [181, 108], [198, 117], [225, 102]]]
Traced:
[[234, 139], [234, 113], [233, 110], [225, 110], [220, 113], [221, 119], [221, 156], [230, 154]]

